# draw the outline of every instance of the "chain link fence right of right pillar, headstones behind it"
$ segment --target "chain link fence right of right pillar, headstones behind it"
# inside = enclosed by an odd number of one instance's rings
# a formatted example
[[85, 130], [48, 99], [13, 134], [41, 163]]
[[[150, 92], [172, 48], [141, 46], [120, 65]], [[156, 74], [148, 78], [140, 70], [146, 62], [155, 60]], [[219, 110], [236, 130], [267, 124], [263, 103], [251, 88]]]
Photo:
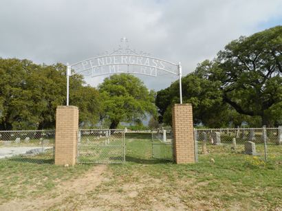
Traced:
[[282, 127], [259, 129], [195, 129], [196, 162], [208, 155], [252, 155], [282, 159]]

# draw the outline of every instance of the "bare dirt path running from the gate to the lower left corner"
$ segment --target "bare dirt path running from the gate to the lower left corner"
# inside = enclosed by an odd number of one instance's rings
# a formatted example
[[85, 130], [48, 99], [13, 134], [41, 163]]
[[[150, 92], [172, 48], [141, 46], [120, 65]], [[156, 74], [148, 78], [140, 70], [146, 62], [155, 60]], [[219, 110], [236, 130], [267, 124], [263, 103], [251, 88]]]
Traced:
[[89, 190], [94, 190], [96, 186], [105, 180], [102, 177], [102, 173], [106, 168], [107, 166], [95, 166], [78, 179], [58, 184], [54, 190], [48, 192], [43, 197], [9, 201], [1, 205], [0, 210], [48, 210], [58, 204], [62, 204], [63, 201], [69, 198], [83, 195]]

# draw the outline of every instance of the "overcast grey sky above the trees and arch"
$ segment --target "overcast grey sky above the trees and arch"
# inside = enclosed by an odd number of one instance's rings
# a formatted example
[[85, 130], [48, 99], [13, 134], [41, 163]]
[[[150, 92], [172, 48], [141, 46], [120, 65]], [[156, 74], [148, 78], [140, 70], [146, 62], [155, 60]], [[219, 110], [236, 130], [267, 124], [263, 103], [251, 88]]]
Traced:
[[[132, 49], [181, 61], [186, 75], [235, 38], [281, 23], [281, 0], [1, 0], [0, 57], [76, 63], [111, 51], [126, 36]], [[177, 76], [142, 80], [159, 90]]]

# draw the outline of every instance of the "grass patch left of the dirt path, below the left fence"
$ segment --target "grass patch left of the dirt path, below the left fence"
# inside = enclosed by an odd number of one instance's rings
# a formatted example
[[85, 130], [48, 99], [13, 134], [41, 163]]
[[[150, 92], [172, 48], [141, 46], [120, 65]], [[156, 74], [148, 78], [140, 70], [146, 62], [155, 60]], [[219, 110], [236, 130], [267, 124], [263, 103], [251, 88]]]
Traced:
[[16, 198], [40, 197], [61, 181], [79, 177], [89, 168], [87, 165], [74, 168], [55, 166], [51, 154], [1, 159], [0, 203]]

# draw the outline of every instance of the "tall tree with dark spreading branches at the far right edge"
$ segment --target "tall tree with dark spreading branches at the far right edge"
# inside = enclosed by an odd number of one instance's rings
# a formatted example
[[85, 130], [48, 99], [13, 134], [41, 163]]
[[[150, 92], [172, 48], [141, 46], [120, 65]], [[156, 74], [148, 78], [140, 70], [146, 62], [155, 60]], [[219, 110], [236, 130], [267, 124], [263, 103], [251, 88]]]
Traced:
[[209, 78], [221, 81], [224, 101], [239, 113], [259, 115], [273, 126], [282, 119], [275, 111], [282, 100], [281, 53], [282, 26], [240, 37], [218, 53], [219, 69]]

